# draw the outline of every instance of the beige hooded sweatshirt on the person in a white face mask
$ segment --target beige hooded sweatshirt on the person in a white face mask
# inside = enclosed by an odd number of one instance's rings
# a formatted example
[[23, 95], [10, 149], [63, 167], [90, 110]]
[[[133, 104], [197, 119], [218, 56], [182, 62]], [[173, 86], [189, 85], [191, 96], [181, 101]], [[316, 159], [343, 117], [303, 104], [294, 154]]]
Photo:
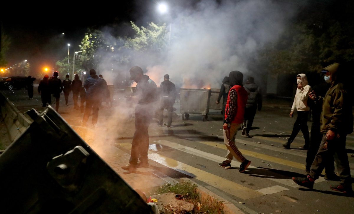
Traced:
[[[306, 74], [298, 74], [301, 77], [301, 89], [296, 89], [295, 99], [291, 107], [291, 111], [309, 111], [310, 107], [307, 105], [309, 92], [312, 91], [311, 86], [308, 85]], [[296, 75], [296, 80], [297, 76]]]

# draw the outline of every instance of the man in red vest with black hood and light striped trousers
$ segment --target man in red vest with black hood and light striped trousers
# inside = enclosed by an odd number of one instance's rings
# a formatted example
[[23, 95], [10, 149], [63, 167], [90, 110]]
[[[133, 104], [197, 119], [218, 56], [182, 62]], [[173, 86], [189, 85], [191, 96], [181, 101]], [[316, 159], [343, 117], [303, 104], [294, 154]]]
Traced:
[[244, 172], [251, 164], [239, 151], [235, 145], [235, 137], [241, 124], [244, 122], [245, 107], [247, 103], [247, 91], [242, 87], [243, 74], [239, 71], [232, 71], [229, 74], [230, 91], [227, 97], [225, 106], [225, 123], [223, 124], [224, 130], [224, 143], [228, 149], [225, 160], [219, 163], [219, 166], [227, 169], [231, 168], [231, 161], [233, 157], [238, 160], [241, 165], [239, 172]]

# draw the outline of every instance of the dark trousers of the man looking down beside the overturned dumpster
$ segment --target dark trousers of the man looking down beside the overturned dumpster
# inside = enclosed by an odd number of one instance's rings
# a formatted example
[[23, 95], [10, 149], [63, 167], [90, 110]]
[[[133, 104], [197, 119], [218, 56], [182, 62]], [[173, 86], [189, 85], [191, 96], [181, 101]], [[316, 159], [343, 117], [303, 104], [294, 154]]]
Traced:
[[[139, 106], [137, 106], [139, 108]], [[135, 133], [133, 136], [132, 149], [129, 163], [136, 165], [138, 160], [148, 161], [149, 133], [148, 128], [152, 119], [151, 109], [135, 109]]]

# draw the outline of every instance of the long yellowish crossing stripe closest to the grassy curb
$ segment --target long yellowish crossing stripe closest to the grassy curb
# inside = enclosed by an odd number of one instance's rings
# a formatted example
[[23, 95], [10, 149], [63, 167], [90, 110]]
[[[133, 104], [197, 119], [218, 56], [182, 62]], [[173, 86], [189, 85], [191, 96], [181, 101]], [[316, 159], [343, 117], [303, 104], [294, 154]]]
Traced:
[[240, 184], [234, 183], [225, 178], [213, 175], [209, 172], [197, 169], [193, 166], [189, 166], [187, 164], [184, 164], [182, 162], [176, 161], [174, 159], [165, 157], [157, 153], [149, 153], [148, 157], [149, 159], [156, 161], [164, 166], [167, 166], [171, 169], [174, 169], [176, 171], [194, 177], [199, 181], [205, 182], [215, 188], [223, 190], [224, 192], [242, 198], [243, 200], [264, 195], [260, 192], [252, 190]]

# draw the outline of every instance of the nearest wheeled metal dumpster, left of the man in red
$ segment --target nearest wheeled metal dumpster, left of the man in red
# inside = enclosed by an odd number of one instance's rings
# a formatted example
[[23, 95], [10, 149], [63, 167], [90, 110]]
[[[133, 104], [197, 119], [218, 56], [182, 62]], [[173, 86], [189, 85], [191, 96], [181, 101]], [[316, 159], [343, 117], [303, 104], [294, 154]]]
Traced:
[[189, 114], [201, 114], [206, 121], [210, 105], [210, 89], [180, 88], [180, 105], [182, 120], [189, 118]]

